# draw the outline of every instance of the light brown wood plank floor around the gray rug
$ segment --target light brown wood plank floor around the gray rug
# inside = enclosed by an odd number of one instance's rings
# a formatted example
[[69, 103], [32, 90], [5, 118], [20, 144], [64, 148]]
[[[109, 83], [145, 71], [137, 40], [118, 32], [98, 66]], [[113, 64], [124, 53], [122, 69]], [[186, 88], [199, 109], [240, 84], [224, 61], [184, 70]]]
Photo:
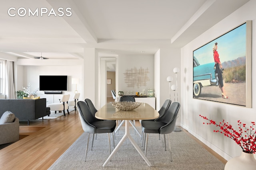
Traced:
[[[27, 121], [20, 121], [20, 140], [0, 150], [0, 169], [47, 170], [82, 133], [78, 111], [57, 119], [32, 120], [29, 126]], [[226, 163], [224, 158], [198, 143]]]

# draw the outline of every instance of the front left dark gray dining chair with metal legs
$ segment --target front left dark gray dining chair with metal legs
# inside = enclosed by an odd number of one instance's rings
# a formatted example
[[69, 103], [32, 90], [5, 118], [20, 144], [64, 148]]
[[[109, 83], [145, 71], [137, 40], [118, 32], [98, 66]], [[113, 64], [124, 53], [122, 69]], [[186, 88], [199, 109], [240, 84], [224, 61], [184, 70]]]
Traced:
[[[114, 130], [116, 128], [116, 121], [99, 121], [96, 119], [92, 113], [86, 102], [79, 101], [77, 103], [79, 117], [82, 124], [82, 128], [84, 132], [88, 133], [86, 151], [85, 151], [85, 160], [87, 156], [87, 150], [90, 140], [90, 134], [97, 134], [97, 133], [108, 133], [108, 148], [111, 154], [111, 147], [110, 147], [110, 133], [112, 133], [112, 139], [114, 144]], [[115, 146], [115, 145], [114, 145]]]

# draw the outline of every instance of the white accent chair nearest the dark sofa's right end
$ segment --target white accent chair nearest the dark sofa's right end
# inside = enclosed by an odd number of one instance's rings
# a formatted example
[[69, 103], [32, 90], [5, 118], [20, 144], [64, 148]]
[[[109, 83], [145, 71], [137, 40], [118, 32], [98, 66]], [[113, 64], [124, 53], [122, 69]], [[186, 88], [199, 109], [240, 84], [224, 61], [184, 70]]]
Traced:
[[[70, 98], [70, 94], [63, 94], [60, 98], [59, 103], [48, 104], [47, 107], [50, 107], [51, 111], [63, 111], [64, 116], [66, 116], [65, 110], [68, 111], [68, 100]], [[69, 111], [68, 111], [69, 114]]]

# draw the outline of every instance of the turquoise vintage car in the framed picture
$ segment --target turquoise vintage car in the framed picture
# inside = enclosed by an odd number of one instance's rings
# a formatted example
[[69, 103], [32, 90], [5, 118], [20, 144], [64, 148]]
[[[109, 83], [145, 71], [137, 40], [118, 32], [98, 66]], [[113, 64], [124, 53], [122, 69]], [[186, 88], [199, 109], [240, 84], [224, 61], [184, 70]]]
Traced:
[[200, 65], [196, 57], [194, 57], [193, 63], [193, 92], [194, 97], [199, 98], [202, 87], [218, 86], [218, 74], [215, 74], [214, 62]]

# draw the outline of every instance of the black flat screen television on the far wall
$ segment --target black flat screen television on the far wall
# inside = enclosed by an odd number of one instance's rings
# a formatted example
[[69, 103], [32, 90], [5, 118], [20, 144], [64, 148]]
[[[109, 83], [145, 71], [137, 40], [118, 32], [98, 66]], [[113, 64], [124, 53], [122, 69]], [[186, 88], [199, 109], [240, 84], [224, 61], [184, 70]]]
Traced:
[[40, 91], [68, 91], [68, 76], [39, 76]]

